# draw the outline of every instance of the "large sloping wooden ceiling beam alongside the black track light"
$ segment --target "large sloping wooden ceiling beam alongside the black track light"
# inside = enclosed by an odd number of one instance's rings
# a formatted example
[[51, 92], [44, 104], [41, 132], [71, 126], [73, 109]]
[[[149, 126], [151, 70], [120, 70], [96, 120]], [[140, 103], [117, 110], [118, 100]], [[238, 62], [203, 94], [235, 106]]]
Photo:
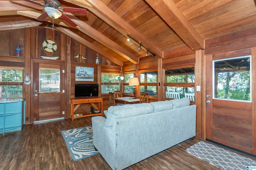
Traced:
[[[154, 43], [149, 41], [144, 35], [139, 33], [134, 27], [129, 23], [124, 21], [120, 16], [118, 16], [114, 11], [112, 11], [108, 6], [106, 6], [100, 0], [64, 0], [75, 5], [82, 6], [86, 8], [83, 3], [86, 1], [92, 7], [89, 9], [92, 13], [98, 16], [100, 19], [108, 23], [111, 27], [122, 33], [124, 36], [127, 34], [131, 37], [136, 38], [137, 41], [141, 42], [142, 45], [146, 46], [150, 51], [157, 55], [157, 58], [163, 58], [163, 51], [161, 51]], [[102, 10], [104, 9], [104, 10]], [[145, 49], [144, 49], [145, 50]]]

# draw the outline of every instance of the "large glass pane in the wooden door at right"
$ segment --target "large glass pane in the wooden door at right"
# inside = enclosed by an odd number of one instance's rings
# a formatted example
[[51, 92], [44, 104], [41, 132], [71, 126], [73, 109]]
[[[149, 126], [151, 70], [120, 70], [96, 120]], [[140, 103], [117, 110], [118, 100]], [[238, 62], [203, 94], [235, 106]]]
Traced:
[[251, 101], [250, 58], [213, 61], [214, 98]]

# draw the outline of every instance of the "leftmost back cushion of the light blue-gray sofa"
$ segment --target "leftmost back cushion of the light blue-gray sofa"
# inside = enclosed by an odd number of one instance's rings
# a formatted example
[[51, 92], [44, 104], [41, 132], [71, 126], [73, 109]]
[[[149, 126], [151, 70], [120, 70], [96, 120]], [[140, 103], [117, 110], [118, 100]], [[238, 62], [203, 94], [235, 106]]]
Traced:
[[149, 103], [125, 104], [123, 106], [110, 106], [106, 115], [106, 127], [112, 127], [116, 119], [123, 119], [138, 115], [153, 113], [154, 107]]

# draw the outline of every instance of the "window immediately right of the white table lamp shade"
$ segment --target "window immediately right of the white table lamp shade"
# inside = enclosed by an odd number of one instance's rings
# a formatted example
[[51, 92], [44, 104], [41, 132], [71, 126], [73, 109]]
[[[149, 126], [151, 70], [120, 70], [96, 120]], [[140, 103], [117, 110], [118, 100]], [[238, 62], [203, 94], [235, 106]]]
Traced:
[[157, 71], [140, 73], [140, 92], [149, 93], [150, 96], [157, 96], [158, 92]]

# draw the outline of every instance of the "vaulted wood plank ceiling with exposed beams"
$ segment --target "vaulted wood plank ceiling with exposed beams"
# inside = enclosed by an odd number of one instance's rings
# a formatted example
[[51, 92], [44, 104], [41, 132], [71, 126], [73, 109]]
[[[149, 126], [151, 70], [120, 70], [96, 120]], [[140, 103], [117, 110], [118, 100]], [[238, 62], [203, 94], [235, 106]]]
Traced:
[[[163, 58], [166, 51], [187, 45], [204, 49], [204, 40], [255, 28], [254, 0], [58, 0], [62, 6], [86, 8], [87, 16], [66, 13], [77, 27], [54, 19], [54, 28], [76, 37], [86, 47], [118, 65], [146, 56], [146, 49]], [[44, 4], [44, 1], [38, 1]], [[0, 31], [48, 25], [37, 21], [42, 6], [23, 0], [0, 1]], [[100, 51], [100, 52], [99, 52]], [[149, 53], [151, 55], [151, 53]]]

